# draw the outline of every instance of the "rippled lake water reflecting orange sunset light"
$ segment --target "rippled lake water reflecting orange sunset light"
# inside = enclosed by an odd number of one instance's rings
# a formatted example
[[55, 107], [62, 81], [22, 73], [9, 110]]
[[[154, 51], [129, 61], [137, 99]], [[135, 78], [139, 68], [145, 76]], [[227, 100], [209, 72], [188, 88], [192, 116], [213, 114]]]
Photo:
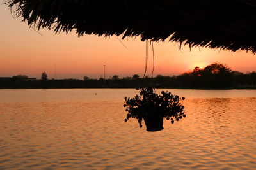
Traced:
[[256, 169], [256, 90], [161, 90], [187, 117], [147, 132], [135, 89], [1, 89], [0, 169]]

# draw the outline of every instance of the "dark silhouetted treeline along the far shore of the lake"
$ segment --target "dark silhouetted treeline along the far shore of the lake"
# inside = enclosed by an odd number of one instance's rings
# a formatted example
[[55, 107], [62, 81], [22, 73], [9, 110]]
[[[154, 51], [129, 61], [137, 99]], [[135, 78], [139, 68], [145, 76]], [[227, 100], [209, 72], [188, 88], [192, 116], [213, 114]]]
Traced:
[[179, 76], [161, 76], [140, 78], [138, 74], [131, 77], [92, 79], [84, 76], [84, 80], [62, 79], [49, 80], [44, 72], [41, 79], [28, 76], [0, 78], [1, 89], [34, 89], [34, 88], [135, 88], [153, 86], [159, 88], [184, 89], [256, 89], [256, 73], [243, 74], [232, 71], [225, 64], [213, 63], [205, 68], [195, 67], [193, 71]]

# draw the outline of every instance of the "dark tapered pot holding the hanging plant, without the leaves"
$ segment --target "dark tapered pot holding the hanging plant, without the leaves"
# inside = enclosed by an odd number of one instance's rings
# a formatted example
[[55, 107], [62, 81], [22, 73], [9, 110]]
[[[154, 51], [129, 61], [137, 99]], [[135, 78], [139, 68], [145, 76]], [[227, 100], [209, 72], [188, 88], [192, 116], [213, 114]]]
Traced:
[[145, 117], [143, 118], [147, 131], [161, 131], [163, 130], [163, 117]]

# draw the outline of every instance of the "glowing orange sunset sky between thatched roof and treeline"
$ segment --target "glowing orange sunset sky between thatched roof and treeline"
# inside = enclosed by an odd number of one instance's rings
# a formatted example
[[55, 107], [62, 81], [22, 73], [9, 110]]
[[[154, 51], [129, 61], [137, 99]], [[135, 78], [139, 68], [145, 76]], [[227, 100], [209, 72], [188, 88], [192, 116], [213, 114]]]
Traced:
[[[137, 38], [121, 39], [95, 35], [78, 37], [76, 32], [55, 34], [52, 30], [29, 28], [22, 18], [13, 18], [0, 1], [0, 77], [19, 74], [40, 78], [120, 78], [145, 71], [145, 42]], [[179, 75], [213, 63], [227, 64], [234, 71], [256, 71], [256, 57], [251, 52], [229, 52], [210, 48], [191, 48], [174, 42], [154, 43], [154, 76]], [[147, 74], [152, 71], [152, 46], [148, 48]], [[56, 68], [56, 76], [55, 76]]]

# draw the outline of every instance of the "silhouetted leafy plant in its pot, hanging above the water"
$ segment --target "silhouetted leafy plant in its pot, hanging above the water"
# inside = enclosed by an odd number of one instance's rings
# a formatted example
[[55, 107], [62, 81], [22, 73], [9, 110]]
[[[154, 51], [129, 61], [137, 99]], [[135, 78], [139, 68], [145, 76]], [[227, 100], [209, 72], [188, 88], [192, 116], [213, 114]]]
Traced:
[[171, 92], [161, 92], [157, 94], [154, 88], [138, 88], [140, 95], [133, 98], [125, 97], [124, 107], [127, 111], [125, 122], [129, 118], [136, 118], [142, 127], [142, 120], [144, 120], [147, 131], [161, 131], [163, 128], [163, 118], [174, 121], [179, 121], [185, 118], [184, 106], [180, 103], [184, 97], [173, 95]]

